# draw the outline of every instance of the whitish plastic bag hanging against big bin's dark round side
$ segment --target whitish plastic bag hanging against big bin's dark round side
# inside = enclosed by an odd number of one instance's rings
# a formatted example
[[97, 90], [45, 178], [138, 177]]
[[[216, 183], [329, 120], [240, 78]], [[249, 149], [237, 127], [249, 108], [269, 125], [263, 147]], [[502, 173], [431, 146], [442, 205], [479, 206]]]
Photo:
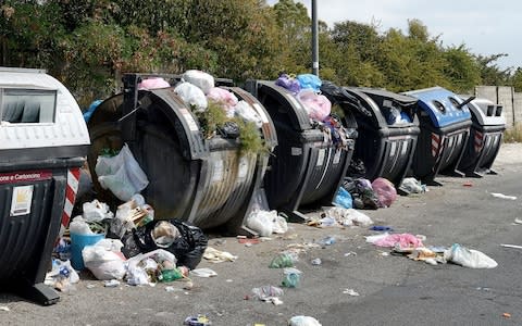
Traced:
[[98, 156], [95, 171], [100, 186], [111, 190], [122, 201], [130, 200], [149, 184], [126, 143], [115, 156]]

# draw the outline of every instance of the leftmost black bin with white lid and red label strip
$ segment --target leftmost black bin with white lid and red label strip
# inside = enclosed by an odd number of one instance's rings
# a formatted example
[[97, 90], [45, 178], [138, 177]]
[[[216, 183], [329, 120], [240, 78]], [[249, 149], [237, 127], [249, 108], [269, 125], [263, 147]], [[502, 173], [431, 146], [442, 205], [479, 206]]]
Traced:
[[73, 96], [40, 70], [0, 67], [0, 289], [41, 304], [66, 226], [89, 134]]

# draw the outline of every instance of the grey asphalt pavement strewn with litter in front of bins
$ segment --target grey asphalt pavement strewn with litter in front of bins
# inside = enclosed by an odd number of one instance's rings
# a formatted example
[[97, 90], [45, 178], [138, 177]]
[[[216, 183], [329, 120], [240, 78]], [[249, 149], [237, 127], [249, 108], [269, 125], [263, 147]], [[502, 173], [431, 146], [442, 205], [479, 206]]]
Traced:
[[[211, 236], [209, 246], [237, 255], [234, 262], [199, 267], [217, 273], [154, 287], [103, 287], [87, 272], [61, 300], [40, 306], [0, 293], [0, 325], [183, 325], [204, 314], [212, 325], [287, 325], [295, 315], [322, 325], [522, 325], [522, 145], [502, 145], [494, 170], [483, 178], [440, 176], [442, 187], [399, 197], [390, 208], [361, 211], [394, 233], [423, 235], [426, 246], [460, 243], [478, 250], [498, 266], [436, 266], [391, 254], [365, 242], [368, 227], [289, 224], [288, 233], [246, 246], [234, 237]], [[514, 196], [517, 200], [492, 193]], [[311, 216], [320, 212], [310, 213]], [[331, 246], [316, 246], [333, 236]], [[299, 250], [297, 288], [284, 288], [283, 303], [262, 302], [252, 288], [281, 286], [283, 271], [269, 268], [281, 251]], [[320, 265], [312, 260], [321, 259]]]

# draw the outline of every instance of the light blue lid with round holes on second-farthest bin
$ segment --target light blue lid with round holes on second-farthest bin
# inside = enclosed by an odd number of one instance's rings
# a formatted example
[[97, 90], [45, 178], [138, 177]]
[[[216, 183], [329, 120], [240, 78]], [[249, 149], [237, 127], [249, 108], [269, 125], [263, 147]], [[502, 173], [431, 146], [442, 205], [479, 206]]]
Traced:
[[[471, 121], [468, 105], [460, 105], [463, 100], [455, 92], [436, 86], [402, 92], [419, 99], [419, 108], [427, 113], [435, 127]], [[422, 114], [422, 113], [421, 113]]]

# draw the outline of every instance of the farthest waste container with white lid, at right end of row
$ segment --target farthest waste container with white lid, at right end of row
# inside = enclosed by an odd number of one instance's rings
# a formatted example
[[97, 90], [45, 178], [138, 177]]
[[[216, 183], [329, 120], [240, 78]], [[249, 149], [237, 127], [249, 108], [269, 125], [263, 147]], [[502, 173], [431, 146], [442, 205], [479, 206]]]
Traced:
[[[461, 96], [462, 100], [468, 98]], [[484, 173], [496, 174], [492, 165], [506, 130], [504, 108], [487, 99], [473, 99], [468, 108], [471, 112], [471, 134], [459, 170], [473, 177], [481, 177]]]

